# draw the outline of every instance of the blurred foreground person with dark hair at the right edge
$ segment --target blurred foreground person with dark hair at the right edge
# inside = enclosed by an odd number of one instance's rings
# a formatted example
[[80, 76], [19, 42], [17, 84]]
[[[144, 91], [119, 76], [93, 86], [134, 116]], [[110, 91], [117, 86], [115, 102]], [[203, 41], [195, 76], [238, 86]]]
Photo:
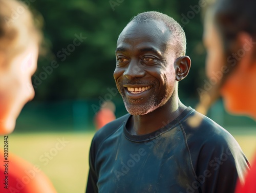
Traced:
[[[208, 7], [204, 24], [206, 74], [212, 89], [202, 92], [201, 112], [222, 96], [232, 114], [256, 120], [256, 1], [219, 0]], [[236, 192], [256, 192], [256, 157]]]

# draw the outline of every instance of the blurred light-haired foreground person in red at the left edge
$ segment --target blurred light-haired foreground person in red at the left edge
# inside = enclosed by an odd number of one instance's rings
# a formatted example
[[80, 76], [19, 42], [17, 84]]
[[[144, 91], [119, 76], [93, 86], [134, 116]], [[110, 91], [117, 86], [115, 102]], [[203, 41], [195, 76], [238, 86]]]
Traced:
[[[34, 97], [31, 76], [37, 68], [41, 32], [28, 7], [0, 0], [0, 192], [56, 192], [40, 168], [9, 153], [8, 134], [23, 106]], [[31, 144], [32, 145], [32, 144]]]

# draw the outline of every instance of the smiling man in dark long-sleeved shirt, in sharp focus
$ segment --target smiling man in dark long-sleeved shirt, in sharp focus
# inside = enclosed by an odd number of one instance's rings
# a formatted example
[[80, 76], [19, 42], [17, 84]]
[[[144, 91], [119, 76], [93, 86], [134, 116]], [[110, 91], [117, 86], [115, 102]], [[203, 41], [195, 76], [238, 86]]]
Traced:
[[129, 114], [95, 134], [87, 193], [230, 193], [243, 180], [237, 141], [179, 100], [185, 50], [183, 29], [165, 14], [140, 13], [123, 29], [114, 79]]

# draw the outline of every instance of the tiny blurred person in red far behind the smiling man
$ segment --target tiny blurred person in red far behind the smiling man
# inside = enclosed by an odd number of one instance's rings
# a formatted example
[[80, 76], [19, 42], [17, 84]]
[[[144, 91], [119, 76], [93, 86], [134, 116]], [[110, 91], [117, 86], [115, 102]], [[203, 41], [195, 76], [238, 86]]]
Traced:
[[96, 129], [99, 130], [105, 124], [116, 119], [115, 116], [116, 106], [111, 101], [105, 101], [102, 103], [100, 110], [97, 112], [94, 118]]

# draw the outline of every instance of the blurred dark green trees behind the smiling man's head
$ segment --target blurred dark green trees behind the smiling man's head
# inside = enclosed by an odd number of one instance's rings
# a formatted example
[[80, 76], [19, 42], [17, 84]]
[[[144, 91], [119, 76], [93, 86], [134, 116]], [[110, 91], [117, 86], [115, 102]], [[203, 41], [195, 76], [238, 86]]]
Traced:
[[[122, 3], [118, 3], [122, 2]], [[52, 60], [58, 68], [35, 88], [34, 100], [94, 99], [115, 87], [113, 71], [116, 65], [116, 40], [130, 19], [143, 11], [156, 10], [174, 17], [181, 25], [181, 14], [191, 10], [198, 1], [51, 1], [36, 0], [31, 6], [44, 18], [45, 41], [49, 53], [38, 62], [35, 77], [50, 66]], [[180, 84], [180, 96], [197, 98], [196, 88], [204, 74], [204, 48], [200, 13], [184, 26], [187, 36], [187, 55], [191, 57], [189, 76]], [[67, 58], [57, 56], [59, 51], [73, 44], [75, 34], [87, 37], [80, 46], [69, 52]]]

